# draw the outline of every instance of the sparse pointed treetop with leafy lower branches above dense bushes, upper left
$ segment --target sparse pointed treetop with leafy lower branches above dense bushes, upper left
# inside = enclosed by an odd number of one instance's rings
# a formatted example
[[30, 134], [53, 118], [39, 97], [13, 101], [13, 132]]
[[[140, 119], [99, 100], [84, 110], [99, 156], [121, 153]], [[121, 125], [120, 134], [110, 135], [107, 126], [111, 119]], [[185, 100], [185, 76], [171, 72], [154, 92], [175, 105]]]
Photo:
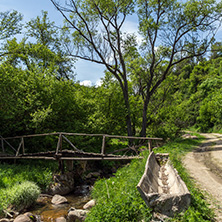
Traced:
[[[34, 71], [37, 67], [44, 72], [56, 73], [57, 78], [73, 78], [74, 59], [68, 57], [63, 48], [62, 33], [48, 19], [48, 13], [42, 11], [26, 24], [25, 37], [18, 41], [15, 37], [7, 40], [2, 47], [4, 58], [10, 64]], [[32, 39], [30, 40], [29, 37]]]

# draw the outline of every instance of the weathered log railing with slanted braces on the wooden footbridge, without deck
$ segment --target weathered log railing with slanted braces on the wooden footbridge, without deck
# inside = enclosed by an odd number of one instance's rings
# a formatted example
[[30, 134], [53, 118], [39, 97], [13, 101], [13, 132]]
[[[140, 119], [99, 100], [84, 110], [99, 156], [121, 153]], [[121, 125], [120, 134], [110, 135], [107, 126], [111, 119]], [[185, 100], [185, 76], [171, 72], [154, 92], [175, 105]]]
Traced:
[[[119, 135], [108, 135], [108, 134], [86, 134], [86, 133], [66, 133], [66, 132], [56, 132], [56, 133], [44, 133], [44, 134], [32, 134], [32, 135], [23, 135], [23, 136], [15, 136], [15, 137], [7, 137], [3, 138], [0, 136], [1, 140], [1, 148], [2, 153], [6, 152], [6, 146], [9, 147], [11, 150], [15, 152], [15, 156], [20, 154], [25, 154], [25, 139], [26, 138], [33, 138], [33, 137], [42, 137], [42, 136], [58, 136], [57, 146], [56, 146], [56, 154], [62, 151], [62, 141], [66, 141], [75, 151], [83, 152], [82, 150], [78, 149], [68, 138], [67, 136], [90, 136], [90, 137], [102, 137], [102, 145], [100, 154], [105, 155], [105, 148], [106, 148], [106, 138], [119, 138], [119, 139], [129, 139], [129, 140], [140, 140], [140, 141], [147, 141], [147, 146], [149, 151], [152, 151], [152, 141], [162, 141], [162, 138], [151, 138], [151, 137], [135, 137], [135, 136], [119, 136]], [[10, 140], [19, 140], [18, 147], [10, 144]], [[124, 151], [128, 148], [115, 150], [112, 153], [116, 153], [118, 151]]]

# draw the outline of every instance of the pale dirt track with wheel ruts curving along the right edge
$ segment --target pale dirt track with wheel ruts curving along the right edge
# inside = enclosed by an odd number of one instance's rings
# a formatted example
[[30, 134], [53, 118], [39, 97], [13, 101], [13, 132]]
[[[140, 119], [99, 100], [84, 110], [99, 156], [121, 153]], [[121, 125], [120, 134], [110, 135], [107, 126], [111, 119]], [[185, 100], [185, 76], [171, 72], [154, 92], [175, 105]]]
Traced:
[[186, 155], [184, 166], [198, 186], [209, 194], [216, 220], [222, 221], [222, 134], [201, 135], [206, 139], [194, 152]]

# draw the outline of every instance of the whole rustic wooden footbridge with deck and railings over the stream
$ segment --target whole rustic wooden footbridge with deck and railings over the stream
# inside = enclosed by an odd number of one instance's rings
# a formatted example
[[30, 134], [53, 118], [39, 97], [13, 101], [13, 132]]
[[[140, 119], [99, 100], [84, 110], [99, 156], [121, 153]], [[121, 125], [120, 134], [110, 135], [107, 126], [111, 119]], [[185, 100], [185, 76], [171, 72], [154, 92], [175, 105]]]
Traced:
[[[46, 137], [46, 136], [55, 136], [57, 137], [57, 146], [54, 148], [54, 151], [46, 152], [35, 152], [35, 153], [26, 153], [25, 152], [25, 140], [28, 138], [34, 137]], [[84, 152], [73, 144], [67, 137], [68, 136], [89, 136], [89, 137], [101, 137], [101, 149], [100, 153], [90, 153]], [[112, 153], [106, 153], [106, 138], [118, 138], [118, 139], [127, 139], [127, 140], [141, 140], [147, 141], [147, 147], [152, 150], [152, 141], [161, 141], [161, 138], [149, 138], [149, 137], [133, 137], [133, 136], [117, 136], [117, 135], [107, 135], [107, 134], [84, 134], [84, 133], [46, 133], [46, 134], [34, 134], [34, 135], [24, 135], [16, 137], [7, 137], [3, 138], [0, 136], [1, 140], [1, 152], [0, 160], [5, 159], [45, 159], [45, 160], [130, 160], [142, 158], [138, 155], [137, 149], [132, 147], [126, 147], [123, 149], [115, 150]], [[13, 140], [13, 145], [11, 141]], [[69, 146], [69, 149], [63, 149], [63, 144], [66, 142], [66, 146]], [[17, 144], [15, 146], [14, 144]], [[136, 155], [114, 155], [117, 152], [123, 151], [134, 151]]]

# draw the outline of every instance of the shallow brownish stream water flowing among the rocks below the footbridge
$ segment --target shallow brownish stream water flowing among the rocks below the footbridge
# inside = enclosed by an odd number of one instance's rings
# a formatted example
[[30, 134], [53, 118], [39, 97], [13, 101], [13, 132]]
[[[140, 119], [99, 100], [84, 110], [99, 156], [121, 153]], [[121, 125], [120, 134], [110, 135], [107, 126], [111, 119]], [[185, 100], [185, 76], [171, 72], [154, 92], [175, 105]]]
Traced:
[[70, 193], [64, 195], [68, 200], [67, 204], [60, 204], [58, 206], [51, 203], [52, 197], [42, 196], [39, 204], [36, 204], [30, 212], [37, 216], [37, 221], [55, 222], [56, 218], [66, 217], [68, 210], [71, 207], [82, 209], [83, 206], [91, 199], [89, 192], [81, 190], [78, 193]]

